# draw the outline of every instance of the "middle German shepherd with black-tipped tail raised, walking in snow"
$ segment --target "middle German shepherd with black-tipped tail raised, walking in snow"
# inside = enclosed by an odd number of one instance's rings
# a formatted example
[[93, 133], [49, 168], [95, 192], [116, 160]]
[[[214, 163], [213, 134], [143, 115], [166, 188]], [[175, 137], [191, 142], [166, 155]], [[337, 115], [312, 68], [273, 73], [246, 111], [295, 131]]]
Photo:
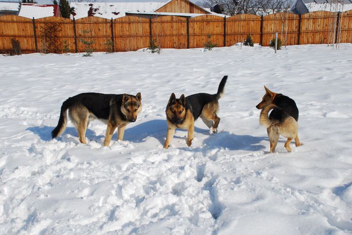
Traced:
[[176, 128], [188, 130], [187, 145], [191, 146], [194, 136], [194, 122], [200, 117], [203, 122], [217, 132], [220, 118], [218, 117], [218, 99], [224, 93], [227, 76], [224, 76], [219, 84], [216, 94], [198, 93], [179, 99], [172, 93], [166, 106], [167, 134], [164, 148], [170, 145]]

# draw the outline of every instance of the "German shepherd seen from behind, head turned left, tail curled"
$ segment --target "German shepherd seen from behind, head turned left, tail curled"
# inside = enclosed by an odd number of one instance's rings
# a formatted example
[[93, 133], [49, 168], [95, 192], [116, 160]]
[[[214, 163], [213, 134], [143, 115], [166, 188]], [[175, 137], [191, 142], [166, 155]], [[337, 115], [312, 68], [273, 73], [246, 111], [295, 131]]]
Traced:
[[[275, 152], [279, 135], [287, 138], [285, 148], [291, 152], [290, 143], [295, 139], [296, 146], [301, 146], [298, 139], [298, 108], [293, 99], [283, 94], [274, 93], [264, 86], [266, 93], [256, 108], [261, 109], [259, 123], [267, 128], [270, 152]], [[268, 116], [269, 111], [273, 111]]]

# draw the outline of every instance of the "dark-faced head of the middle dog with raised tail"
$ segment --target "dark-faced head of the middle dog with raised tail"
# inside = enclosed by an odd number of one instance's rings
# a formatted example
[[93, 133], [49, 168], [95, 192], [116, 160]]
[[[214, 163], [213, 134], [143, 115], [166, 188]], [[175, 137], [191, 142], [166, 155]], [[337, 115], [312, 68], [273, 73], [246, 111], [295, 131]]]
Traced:
[[182, 94], [179, 99], [176, 98], [175, 94], [172, 93], [166, 106], [167, 119], [175, 124], [181, 124], [186, 117], [186, 98]]

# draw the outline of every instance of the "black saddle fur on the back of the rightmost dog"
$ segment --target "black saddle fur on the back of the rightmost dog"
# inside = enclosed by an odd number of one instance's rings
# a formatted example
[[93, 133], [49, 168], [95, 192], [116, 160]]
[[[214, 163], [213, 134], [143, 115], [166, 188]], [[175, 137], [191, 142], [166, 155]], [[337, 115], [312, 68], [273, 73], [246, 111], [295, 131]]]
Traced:
[[[273, 100], [273, 104], [280, 107], [290, 116], [292, 116], [292, 118], [294, 118], [296, 122], [298, 122], [298, 108], [297, 108], [296, 102], [293, 99], [283, 94], [277, 94]], [[278, 108], [274, 108], [269, 115], [269, 119], [272, 119], [272, 120], [274, 119], [283, 120], [283, 118], [285, 118], [284, 114]]]

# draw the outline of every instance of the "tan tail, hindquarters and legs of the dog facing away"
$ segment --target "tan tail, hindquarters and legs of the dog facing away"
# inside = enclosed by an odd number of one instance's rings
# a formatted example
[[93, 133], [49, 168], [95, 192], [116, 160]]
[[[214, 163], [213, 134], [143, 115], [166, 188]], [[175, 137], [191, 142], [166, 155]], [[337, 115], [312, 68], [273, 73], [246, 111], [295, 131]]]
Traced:
[[[285, 148], [288, 152], [291, 152], [290, 143], [292, 139], [298, 139], [298, 123], [292, 116], [288, 116], [283, 122], [277, 120], [269, 120], [268, 113], [273, 108], [279, 108], [275, 104], [269, 104], [260, 111], [259, 123], [267, 128], [269, 141], [270, 141], [270, 152], [275, 152], [276, 146], [279, 141], [279, 135], [287, 138]], [[298, 140], [299, 143], [299, 140]], [[296, 142], [297, 144], [297, 142]]]

